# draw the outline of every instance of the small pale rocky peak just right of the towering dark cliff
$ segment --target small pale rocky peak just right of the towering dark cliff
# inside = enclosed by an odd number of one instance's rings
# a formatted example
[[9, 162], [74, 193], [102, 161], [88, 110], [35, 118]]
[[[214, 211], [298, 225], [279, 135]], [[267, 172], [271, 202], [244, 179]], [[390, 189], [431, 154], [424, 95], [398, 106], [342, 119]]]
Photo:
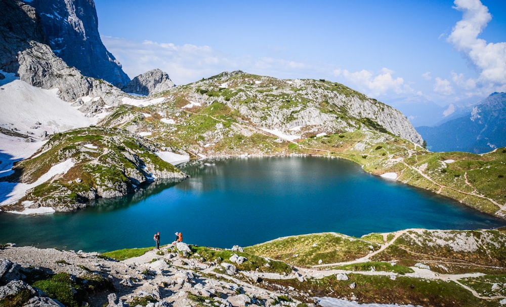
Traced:
[[139, 95], [153, 95], [170, 90], [175, 87], [174, 82], [166, 72], [160, 69], [153, 69], [136, 76], [122, 90], [126, 93]]

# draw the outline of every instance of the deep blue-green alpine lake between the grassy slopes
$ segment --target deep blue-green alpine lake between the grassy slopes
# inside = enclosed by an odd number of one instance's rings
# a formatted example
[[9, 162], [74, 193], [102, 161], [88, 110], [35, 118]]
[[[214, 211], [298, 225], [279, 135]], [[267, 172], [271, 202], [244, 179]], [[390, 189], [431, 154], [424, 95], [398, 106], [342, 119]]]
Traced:
[[189, 162], [191, 178], [155, 182], [133, 196], [86, 210], [40, 216], [0, 213], [0, 243], [110, 251], [154, 246], [183, 232], [189, 244], [231, 248], [291, 235], [360, 237], [405, 228], [506, 225], [456, 201], [365, 173], [355, 163], [316, 157]]

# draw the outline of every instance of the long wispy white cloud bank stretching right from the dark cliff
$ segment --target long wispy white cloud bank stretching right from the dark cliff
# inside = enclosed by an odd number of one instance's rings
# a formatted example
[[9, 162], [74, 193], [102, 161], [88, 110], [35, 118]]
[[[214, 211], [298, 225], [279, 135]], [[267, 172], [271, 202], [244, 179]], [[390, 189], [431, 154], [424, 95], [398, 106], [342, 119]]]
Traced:
[[[209, 46], [175, 45], [144, 41], [136, 43], [103, 36], [107, 49], [123, 64], [131, 78], [149, 69], [167, 72], [176, 84], [188, 84], [223, 71], [243, 70], [278, 78], [317, 78], [328, 65], [273, 57], [231, 56]], [[313, 76], [313, 77], [312, 77]]]

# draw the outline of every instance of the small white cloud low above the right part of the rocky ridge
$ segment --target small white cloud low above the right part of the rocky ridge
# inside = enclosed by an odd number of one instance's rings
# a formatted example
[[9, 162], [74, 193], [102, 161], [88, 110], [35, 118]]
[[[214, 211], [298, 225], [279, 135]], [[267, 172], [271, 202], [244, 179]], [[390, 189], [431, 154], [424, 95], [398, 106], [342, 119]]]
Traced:
[[394, 78], [393, 70], [383, 68], [381, 72], [371, 72], [362, 69], [356, 72], [350, 72], [346, 69], [334, 70], [336, 76], [343, 76], [349, 82], [354, 83], [359, 87], [359, 90], [367, 92], [369, 96], [382, 96], [389, 92], [396, 94], [412, 93], [413, 90], [406, 84], [404, 79], [397, 77]]

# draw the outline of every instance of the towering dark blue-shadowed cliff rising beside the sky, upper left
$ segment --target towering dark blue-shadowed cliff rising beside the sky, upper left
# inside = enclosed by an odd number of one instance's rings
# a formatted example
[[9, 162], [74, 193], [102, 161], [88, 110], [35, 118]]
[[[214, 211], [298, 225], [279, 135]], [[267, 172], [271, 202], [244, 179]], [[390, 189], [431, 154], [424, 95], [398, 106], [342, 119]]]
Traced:
[[35, 8], [49, 46], [69, 66], [118, 88], [130, 81], [100, 39], [93, 0], [33, 0], [29, 4]]

